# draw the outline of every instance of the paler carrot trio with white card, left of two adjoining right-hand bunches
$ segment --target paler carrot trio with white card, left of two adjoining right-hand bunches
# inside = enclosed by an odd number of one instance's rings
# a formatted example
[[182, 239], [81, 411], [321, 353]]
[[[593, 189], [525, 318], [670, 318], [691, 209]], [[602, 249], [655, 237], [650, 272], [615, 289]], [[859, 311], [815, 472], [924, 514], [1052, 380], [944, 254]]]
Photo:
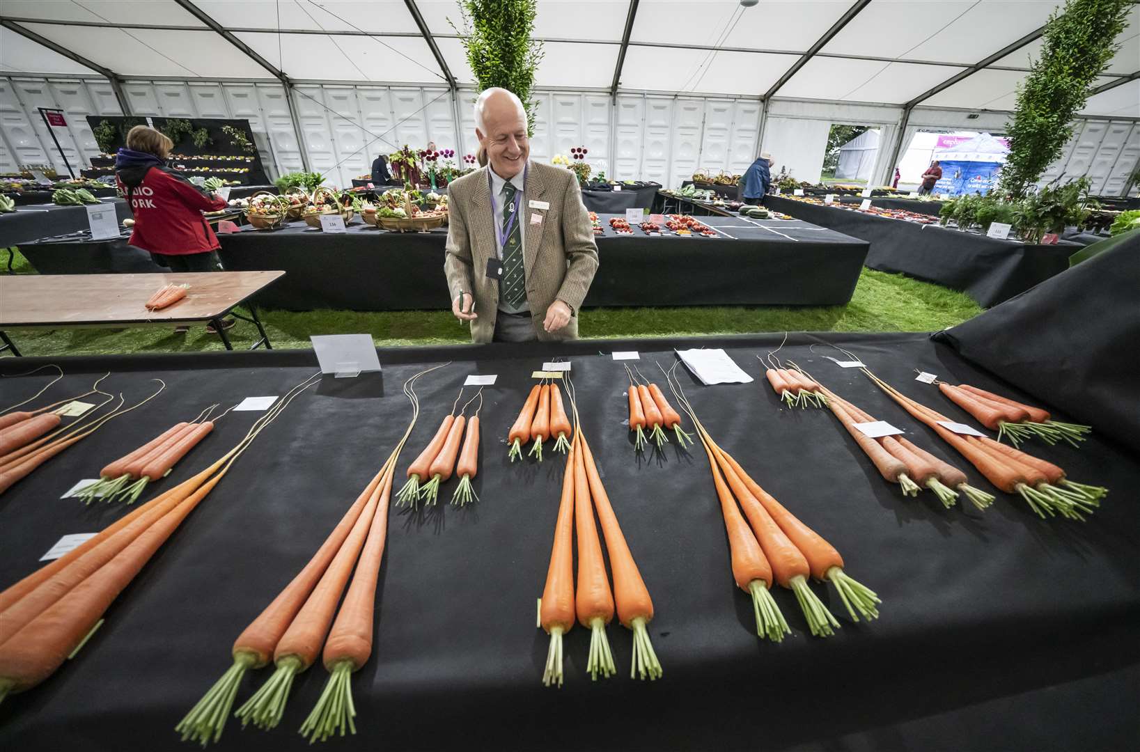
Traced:
[[[796, 368], [795, 373], [801, 378], [819, 384], [807, 373], [799, 370], [798, 366]], [[954, 506], [959, 492], [964, 493], [978, 509], [985, 509], [993, 504], [993, 494], [970, 485], [966, 473], [959, 468], [917, 447], [905, 436], [871, 439], [858, 430], [857, 424], [874, 423], [876, 418], [824, 386], [820, 386], [820, 394], [824, 404], [847, 428], [847, 433], [863, 453], [874, 463], [879, 474], [888, 482], [902, 487], [903, 496], [918, 496], [919, 491], [926, 488], [933, 491], [947, 509]]]

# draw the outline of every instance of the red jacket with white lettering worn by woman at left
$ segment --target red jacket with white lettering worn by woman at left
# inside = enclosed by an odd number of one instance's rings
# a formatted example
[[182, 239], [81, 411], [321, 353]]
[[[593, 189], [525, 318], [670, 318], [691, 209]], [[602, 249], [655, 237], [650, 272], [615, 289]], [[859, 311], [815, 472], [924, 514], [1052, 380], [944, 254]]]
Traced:
[[178, 171], [164, 166], [120, 169], [120, 190], [135, 215], [130, 244], [169, 255], [206, 253], [219, 247], [218, 237], [202, 212], [226, 209], [222, 199], [205, 195]]

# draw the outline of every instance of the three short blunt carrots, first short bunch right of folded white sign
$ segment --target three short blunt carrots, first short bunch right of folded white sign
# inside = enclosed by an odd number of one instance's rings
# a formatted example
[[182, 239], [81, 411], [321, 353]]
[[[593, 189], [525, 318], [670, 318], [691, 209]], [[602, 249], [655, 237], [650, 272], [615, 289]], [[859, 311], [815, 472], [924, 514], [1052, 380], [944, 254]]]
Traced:
[[[459, 485], [451, 496], [451, 504], [463, 506], [475, 500], [474, 488], [471, 485], [472, 479], [479, 469], [479, 410], [483, 407], [483, 390], [479, 390], [475, 395], [479, 398], [479, 407], [475, 414], [467, 420], [463, 412], [467, 406], [475, 401], [475, 398], [467, 400], [459, 415], [455, 410], [463, 399], [463, 390], [455, 398], [451, 412], [443, 418], [435, 431], [435, 435], [420, 452], [415, 461], [408, 465], [408, 480], [396, 496], [397, 506], [410, 504], [413, 507], [421, 500], [426, 499], [426, 505], [435, 504], [439, 498], [440, 483], [446, 483], [453, 474], [459, 476]], [[467, 432], [464, 436], [463, 428], [466, 425]], [[463, 452], [459, 452], [459, 442], [463, 442]], [[458, 458], [458, 465], [456, 464]]]

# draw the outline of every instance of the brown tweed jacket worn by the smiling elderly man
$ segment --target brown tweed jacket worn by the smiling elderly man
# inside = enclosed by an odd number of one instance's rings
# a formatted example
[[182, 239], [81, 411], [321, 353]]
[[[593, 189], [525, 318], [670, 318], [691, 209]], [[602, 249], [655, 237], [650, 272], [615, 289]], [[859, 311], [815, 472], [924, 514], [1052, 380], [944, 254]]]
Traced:
[[[473, 342], [491, 341], [498, 314], [498, 280], [487, 277], [487, 262], [498, 255], [489, 169], [480, 167], [448, 185], [449, 228], [443, 273], [450, 301], [461, 293], [471, 293], [475, 301], [479, 318], [471, 322]], [[535, 334], [545, 341], [573, 340], [578, 336], [577, 312], [597, 270], [597, 244], [581, 203], [581, 189], [570, 170], [529, 162], [523, 193], [519, 222], [526, 232], [523, 272]], [[532, 202], [548, 207], [535, 206]], [[565, 301], [575, 316], [562, 329], [547, 333], [543, 321], [555, 300]]]

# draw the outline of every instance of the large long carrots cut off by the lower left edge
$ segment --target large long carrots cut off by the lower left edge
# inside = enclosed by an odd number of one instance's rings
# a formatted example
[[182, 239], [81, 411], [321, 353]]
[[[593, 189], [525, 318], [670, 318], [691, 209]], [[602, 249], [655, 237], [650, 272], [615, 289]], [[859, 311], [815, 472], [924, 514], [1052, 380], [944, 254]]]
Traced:
[[[157, 516], [150, 524], [138, 532], [130, 542], [117, 550], [105, 564], [96, 569], [78, 585], [71, 587], [60, 597], [55, 599], [44, 610], [38, 613], [31, 621], [25, 623], [11, 637], [0, 644], [0, 698], [8, 692], [23, 692], [48, 678], [68, 656], [87, 641], [91, 632], [101, 623], [103, 613], [119, 597], [120, 592], [130, 585], [142, 566], [150, 559], [155, 551], [186, 518], [186, 516], [197, 506], [197, 504], [213, 489], [214, 485], [226, 475], [233, 463], [245, 451], [250, 442], [269, 424], [290, 401], [301, 391], [311, 386], [312, 378], [293, 387], [286, 399], [279, 406], [275, 406], [269, 414], [262, 417], [254, 428], [238, 442], [225, 457], [207, 468], [207, 472], [196, 476], [197, 487], [180, 487], [182, 494], [163, 494], [164, 501], [174, 500], [174, 506]], [[149, 398], [148, 398], [149, 399]], [[212, 477], [206, 480], [210, 473]], [[124, 534], [131, 525], [139, 525], [140, 521], [148, 513], [154, 513], [160, 507], [149, 504], [140, 508], [142, 513], [138, 516], [130, 516], [131, 522], [121, 525], [116, 532], [109, 537], [97, 536], [98, 542], [95, 546], [82, 546], [76, 549], [79, 556], [65, 557], [66, 563], [62, 567], [51, 569], [52, 574], [47, 578], [25, 578], [17, 583], [22, 586], [32, 581], [30, 588], [19, 588], [21, 596], [15, 600], [9, 600], [5, 610], [11, 611], [21, 606], [28, 597], [39, 597], [41, 587], [47, 587], [52, 582], [52, 578], [68, 571], [70, 567], [78, 566], [84, 557], [99, 549], [115, 536]], [[146, 509], [146, 512], [144, 512]], [[122, 521], [121, 521], [122, 522]], [[116, 523], [117, 524], [117, 523]], [[112, 525], [115, 528], [115, 525]], [[106, 532], [106, 531], [105, 531]], [[91, 541], [88, 541], [91, 542]], [[9, 591], [13, 588], [9, 588]], [[7, 594], [8, 591], [6, 591]]]

